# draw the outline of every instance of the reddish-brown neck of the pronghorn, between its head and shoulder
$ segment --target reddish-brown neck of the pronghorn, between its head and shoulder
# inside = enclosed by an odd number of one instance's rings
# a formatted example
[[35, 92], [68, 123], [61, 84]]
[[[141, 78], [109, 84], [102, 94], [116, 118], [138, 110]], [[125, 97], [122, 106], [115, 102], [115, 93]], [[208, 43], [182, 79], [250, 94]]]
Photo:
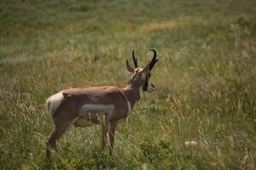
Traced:
[[122, 88], [122, 93], [125, 94], [125, 97], [131, 103], [131, 109], [135, 103], [141, 98], [140, 96], [140, 86], [128, 84], [125, 88]]

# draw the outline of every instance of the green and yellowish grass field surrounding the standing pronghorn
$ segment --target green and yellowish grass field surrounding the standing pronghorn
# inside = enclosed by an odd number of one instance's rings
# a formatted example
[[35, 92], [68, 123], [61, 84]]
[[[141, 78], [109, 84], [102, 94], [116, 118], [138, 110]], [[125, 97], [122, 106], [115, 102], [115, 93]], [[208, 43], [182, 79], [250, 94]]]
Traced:
[[[100, 127], [72, 127], [44, 160], [44, 103], [61, 89], [125, 87], [125, 59], [158, 51], [155, 95], [119, 124], [113, 156]], [[185, 145], [196, 141], [197, 145]], [[3, 0], [0, 169], [253, 169], [256, 1]]]

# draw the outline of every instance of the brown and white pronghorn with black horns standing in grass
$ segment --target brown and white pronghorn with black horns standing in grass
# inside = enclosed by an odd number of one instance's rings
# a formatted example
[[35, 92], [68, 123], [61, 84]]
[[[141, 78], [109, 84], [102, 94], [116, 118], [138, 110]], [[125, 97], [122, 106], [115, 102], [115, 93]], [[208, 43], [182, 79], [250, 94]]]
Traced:
[[102, 149], [109, 138], [109, 154], [113, 152], [114, 132], [119, 122], [131, 114], [136, 102], [143, 92], [153, 92], [154, 85], [150, 82], [150, 71], [158, 61], [156, 51], [148, 65], [143, 69], [137, 64], [137, 58], [132, 52], [135, 69], [126, 60], [126, 67], [133, 74], [125, 88], [113, 86], [69, 88], [52, 95], [46, 101], [46, 107], [51, 116], [55, 129], [49, 135], [46, 146], [46, 158], [55, 148], [56, 140], [67, 130], [67, 127], [90, 127], [102, 125]]

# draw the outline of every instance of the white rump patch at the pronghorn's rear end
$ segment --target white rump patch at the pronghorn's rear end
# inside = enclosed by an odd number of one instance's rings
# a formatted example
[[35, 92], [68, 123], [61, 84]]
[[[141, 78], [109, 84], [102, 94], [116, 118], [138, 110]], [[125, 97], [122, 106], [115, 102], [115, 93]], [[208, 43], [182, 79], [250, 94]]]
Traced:
[[49, 112], [49, 115], [52, 116], [56, 109], [61, 105], [61, 101], [64, 99], [62, 91], [58, 94], [54, 94], [46, 100], [46, 107]]

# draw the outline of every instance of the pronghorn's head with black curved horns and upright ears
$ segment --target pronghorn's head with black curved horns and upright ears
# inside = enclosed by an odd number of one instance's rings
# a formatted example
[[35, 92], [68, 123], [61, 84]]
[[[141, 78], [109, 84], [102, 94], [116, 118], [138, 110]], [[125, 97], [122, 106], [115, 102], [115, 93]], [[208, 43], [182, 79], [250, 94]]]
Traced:
[[137, 88], [140, 88], [140, 90], [143, 90], [143, 92], [149, 92], [149, 93], [154, 92], [154, 84], [150, 82], [150, 77], [151, 77], [150, 71], [153, 69], [154, 65], [158, 61], [158, 59], [156, 59], [156, 51], [154, 49], [150, 49], [150, 50], [153, 51], [154, 53], [153, 57], [148, 62], [148, 65], [146, 65], [143, 68], [139, 67], [134, 51], [132, 51], [132, 59], [133, 59], [133, 64], [135, 68], [133, 69], [129, 64], [128, 59], [126, 60], [127, 70], [133, 74], [128, 84], [131, 84], [132, 86], [136, 86]]

